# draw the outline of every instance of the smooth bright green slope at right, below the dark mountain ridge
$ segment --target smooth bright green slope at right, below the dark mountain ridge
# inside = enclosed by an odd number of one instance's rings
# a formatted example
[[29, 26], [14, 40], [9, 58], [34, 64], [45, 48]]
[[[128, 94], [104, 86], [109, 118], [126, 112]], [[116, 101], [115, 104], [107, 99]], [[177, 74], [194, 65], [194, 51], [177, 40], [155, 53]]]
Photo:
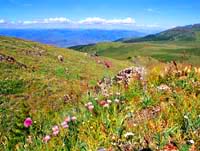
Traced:
[[99, 43], [91, 46], [74, 47], [82, 52], [97, 52], [100, 56], [127, 59], [134, 56], [148, 56], [160, 61], [177, 60], [200, 64], [199, 42], [141, 42], [141, 43]]

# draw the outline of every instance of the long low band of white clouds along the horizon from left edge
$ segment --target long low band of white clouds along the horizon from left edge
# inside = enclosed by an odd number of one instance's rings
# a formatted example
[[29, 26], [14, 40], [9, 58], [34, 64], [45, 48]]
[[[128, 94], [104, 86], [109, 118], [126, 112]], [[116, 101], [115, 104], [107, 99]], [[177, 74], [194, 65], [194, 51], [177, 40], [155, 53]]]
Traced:
[[159, 29], [158, 24], [138, 24], [134, 18], [106, 19], [88, 17], [71, 20], [66, 17], [52, 17], [35, 20], [8, 21], [0, 18], [0, 28], [97, 28], [97, 29]]

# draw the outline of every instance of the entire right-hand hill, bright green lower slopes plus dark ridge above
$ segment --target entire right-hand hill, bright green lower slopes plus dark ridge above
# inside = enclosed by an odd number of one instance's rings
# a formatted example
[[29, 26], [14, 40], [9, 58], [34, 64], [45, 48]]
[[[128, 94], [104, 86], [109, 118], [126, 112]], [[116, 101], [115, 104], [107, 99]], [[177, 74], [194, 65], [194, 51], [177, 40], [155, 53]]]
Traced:
[[121, 39], [116, 42], [74, 46], [71, 48], [121, 60], [134, 60], [137, 56], [143, 56], [163, 62], [176, 60], [199, 65], [199, 33], [200, 25], [196, 24], [176, 27], [143, 38]]

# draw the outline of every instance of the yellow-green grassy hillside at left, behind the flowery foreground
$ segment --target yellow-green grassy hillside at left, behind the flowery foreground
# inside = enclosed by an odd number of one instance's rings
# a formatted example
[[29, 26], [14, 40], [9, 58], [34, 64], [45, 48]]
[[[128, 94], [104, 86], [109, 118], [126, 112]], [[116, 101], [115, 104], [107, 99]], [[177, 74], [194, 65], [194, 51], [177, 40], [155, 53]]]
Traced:
[[[54, 122], [56, 115], [76, 104], [97, 80], [128, 66], [127, 62], [101, 58], [112, 62], [113, 67], [107, 69], [83, 53], [8, 37], [0, 37], [0, 54], [27, 66], [0, 62], [1, 142], [5, 141], [3, 136], [20, 134], [27, 116], [39, 123]], [[58, 55], [64, 62], [58, 61]], [[72, 104], [63, 103], [66, 94], [71, 95]]]

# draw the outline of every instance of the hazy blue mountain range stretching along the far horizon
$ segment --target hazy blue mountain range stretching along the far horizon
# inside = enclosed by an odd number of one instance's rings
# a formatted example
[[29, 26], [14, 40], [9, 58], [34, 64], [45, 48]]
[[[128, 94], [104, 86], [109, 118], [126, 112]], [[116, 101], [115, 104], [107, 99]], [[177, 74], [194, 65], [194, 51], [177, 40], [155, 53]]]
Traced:
[[75, 45], [114, 41], [120, 38], [141, 37], [145, 34], [129, 30], [0, 29], [0, 35], [37, 41], [58, 47], [70, 47]]

